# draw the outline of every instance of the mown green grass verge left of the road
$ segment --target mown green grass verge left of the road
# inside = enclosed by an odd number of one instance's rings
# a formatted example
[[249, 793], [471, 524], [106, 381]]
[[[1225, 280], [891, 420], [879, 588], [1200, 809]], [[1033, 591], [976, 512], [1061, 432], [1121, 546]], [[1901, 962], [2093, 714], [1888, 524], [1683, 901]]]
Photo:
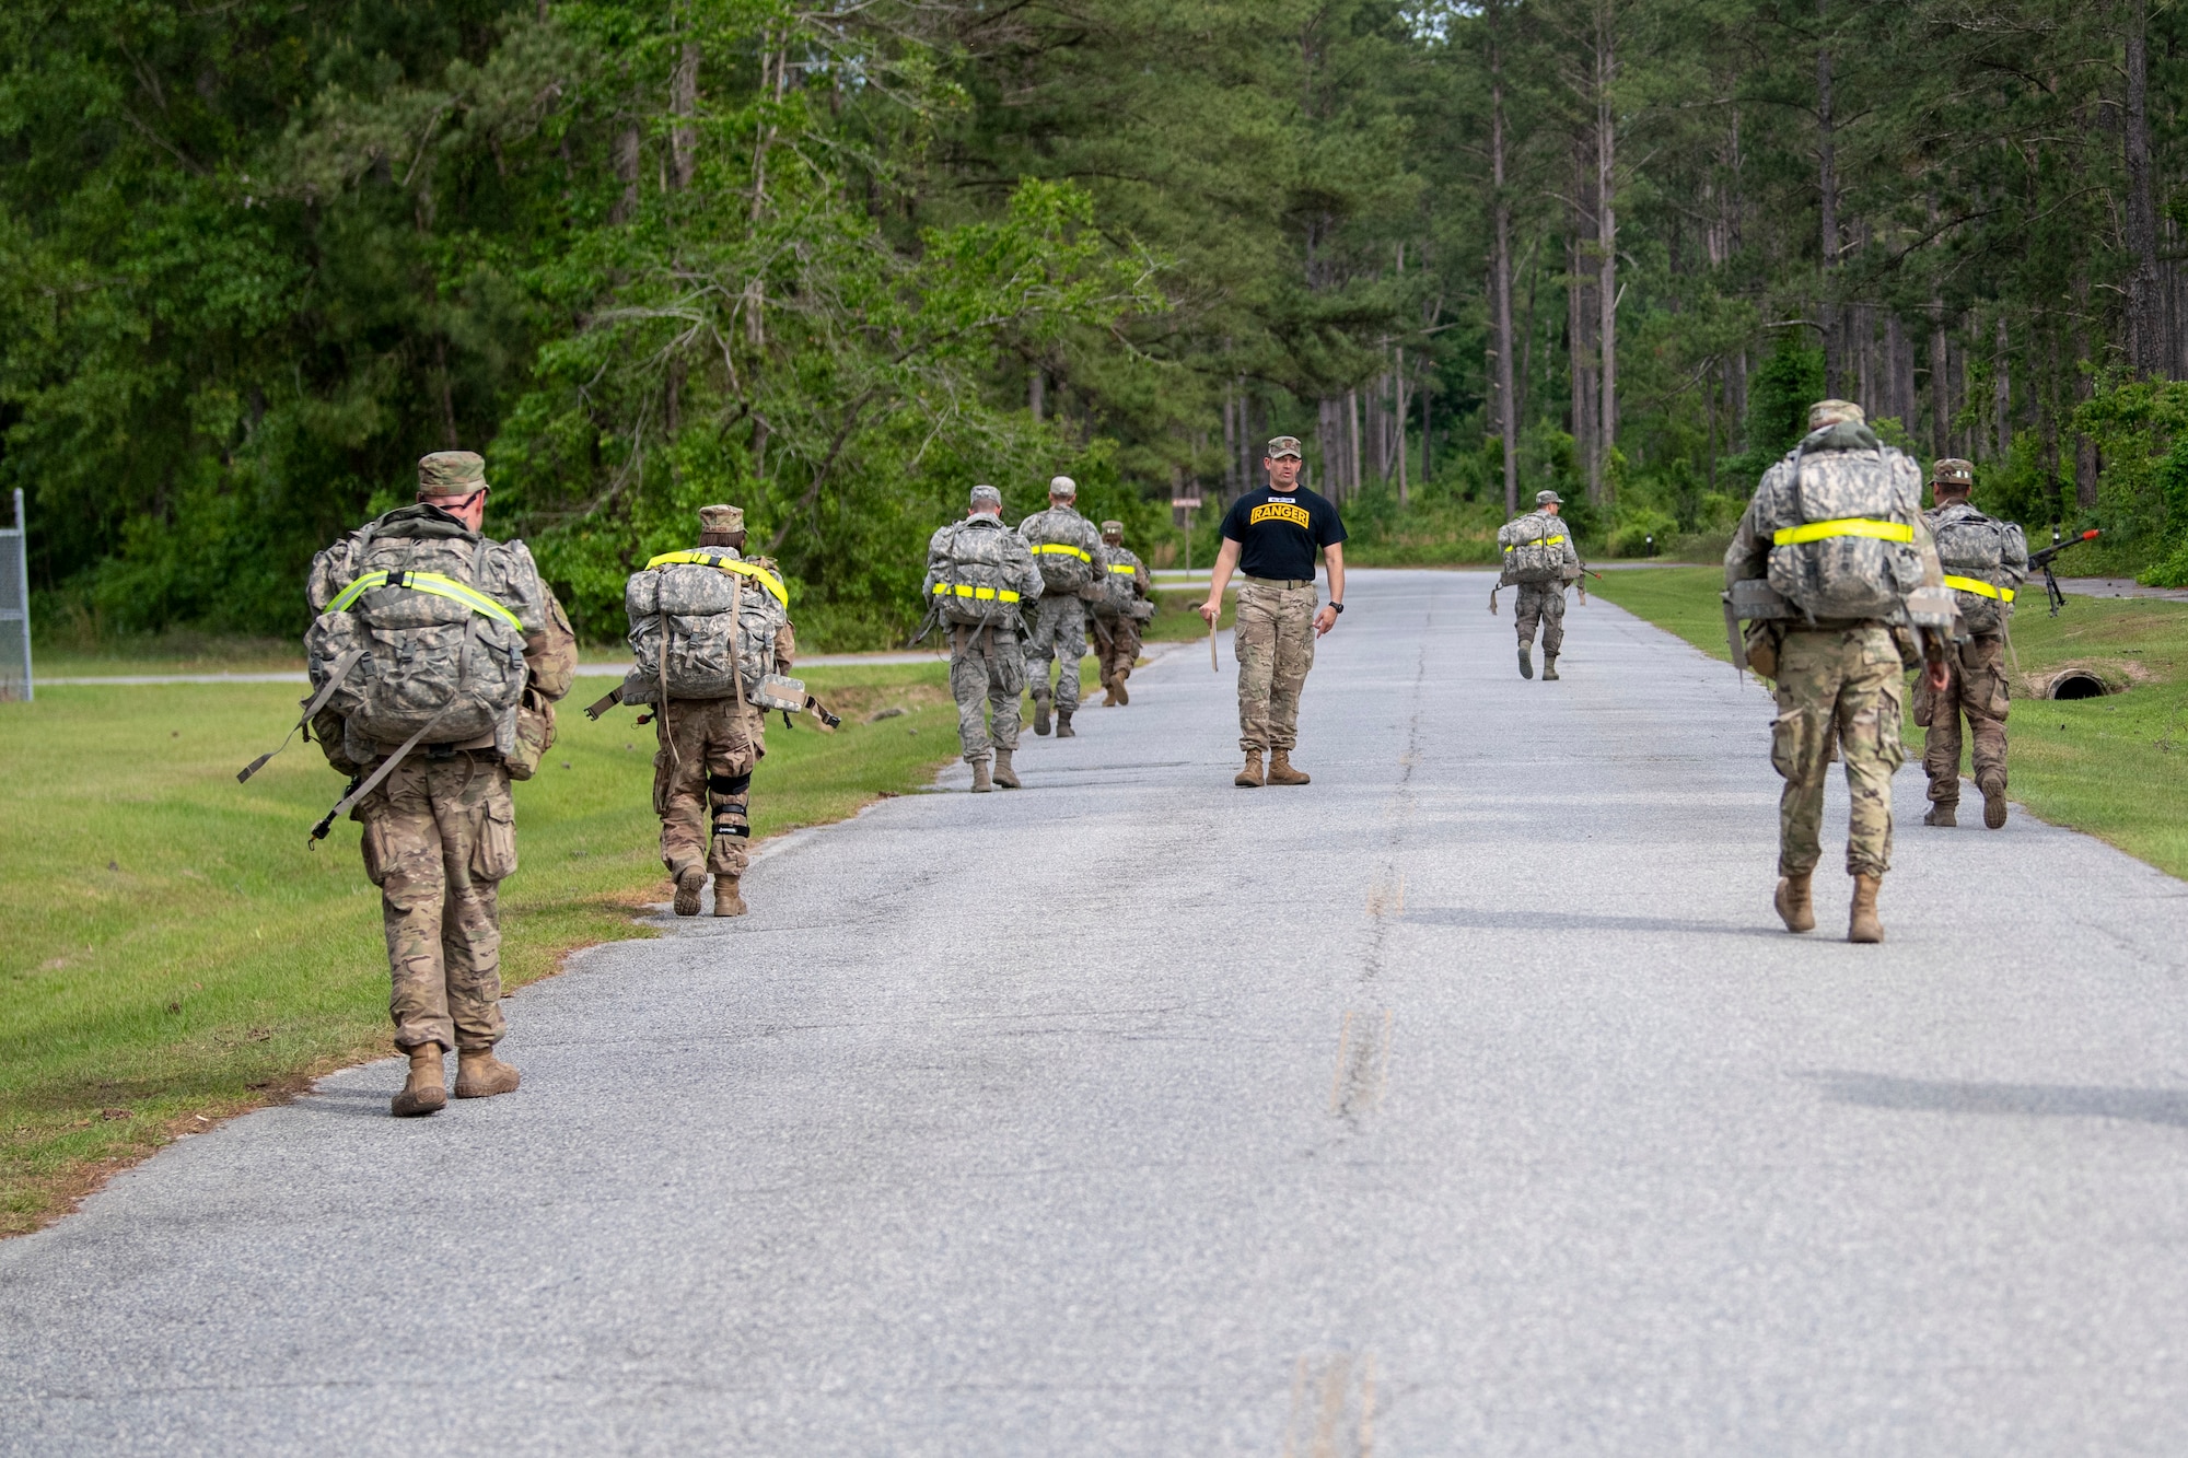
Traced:
[[[943, 670], [814, 670], [845, 716], [775, 718], [753, 782], [755, 834], [834, 821], [919, 788], [956, 755]], [[654, 852], [652, 731], [580, 705], [516, 786], [519, 869], [503, 882], [503, 979], [645, 935], [670, 887]], [[341, 795], [317, 747], [234, 773], [295, 714], [287, 685], [50, 687], [0, 703], [0, 1235], [68, 1208], [175, 1134], [389, 1046], [379, 893], [357, 825], [306, 849]], [[880, 707], [904, 716], [862, 722]], [[519, 1018], [523, 1014], [519, 1011]]]

